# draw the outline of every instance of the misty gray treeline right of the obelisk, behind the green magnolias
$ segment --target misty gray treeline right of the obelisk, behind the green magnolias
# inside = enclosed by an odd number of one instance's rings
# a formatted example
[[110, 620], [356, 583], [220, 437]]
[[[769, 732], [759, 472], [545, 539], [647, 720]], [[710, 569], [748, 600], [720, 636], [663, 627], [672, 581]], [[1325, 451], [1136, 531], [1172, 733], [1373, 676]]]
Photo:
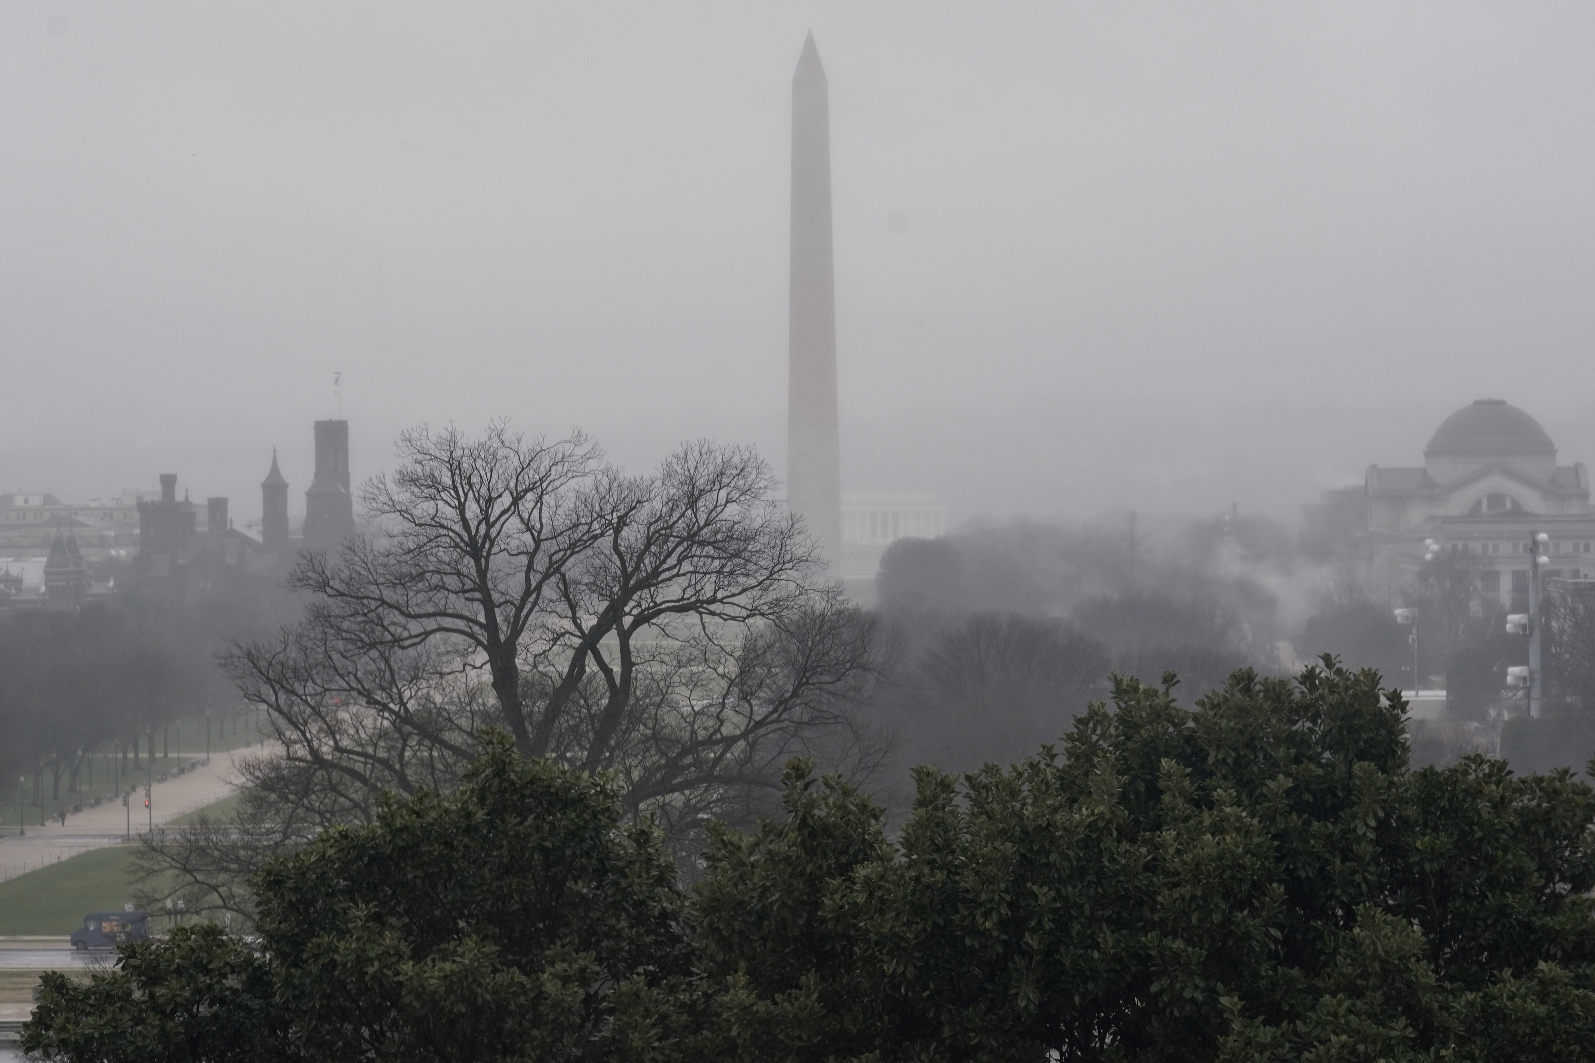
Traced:
[[1420, 614], [1421, 685], [1447, 690], [1445, 727], [1415, 735], [1421, 760], [1455, 762], [1480, 744], [1522, 770], [1582, 768], [1595, 755], [1595, 599], [1547, 590], [1546, 719], [1502, 728], [1526, 712], [1506, 674], [1528, 661], [1528, 641], [1507, 634], [1507, 609], [1480, 593], [1466, 558], [1370, 586], [1345, 543], [1260, 516], [1152, 534], [1132, 521], [1014, 521], [900, 540], [877, 588], [887, 673], [877, 708], [903, 768], [1022, 757], [1101, 698], [1110, 673], [1158, 682], [1172, 671], [1190, 704], [1235, 668], [1284, 674], [1330, 653], [1410, 690], [1412, 628], [1396, 607]]

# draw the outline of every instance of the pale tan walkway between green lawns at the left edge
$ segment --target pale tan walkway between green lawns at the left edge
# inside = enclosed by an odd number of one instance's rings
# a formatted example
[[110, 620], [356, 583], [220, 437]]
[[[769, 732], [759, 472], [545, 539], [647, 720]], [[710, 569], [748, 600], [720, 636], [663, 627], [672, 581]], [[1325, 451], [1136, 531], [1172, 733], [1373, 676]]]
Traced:
[[[238, 765], [266, 752], [270, 752], [266, 747], [254, 746], [214, 754], [209, 765], [156, 783], [148, 810], [144, 808], [144, 787], [139, 787], [129, 798], [134, 837], [147, 832], [152, 819], [160, 827], [222, 800], [238, 786]], [[183, 760], [193, 762], [203, 757], [183, 757]], [[121, 802], [110, 802], [67, 816], [65, 826], [59, 822], [30, 826], [24, 837], [0, 838], [0, 881], [78, 853], [123, 841], [128, 834], [128, 813]]]

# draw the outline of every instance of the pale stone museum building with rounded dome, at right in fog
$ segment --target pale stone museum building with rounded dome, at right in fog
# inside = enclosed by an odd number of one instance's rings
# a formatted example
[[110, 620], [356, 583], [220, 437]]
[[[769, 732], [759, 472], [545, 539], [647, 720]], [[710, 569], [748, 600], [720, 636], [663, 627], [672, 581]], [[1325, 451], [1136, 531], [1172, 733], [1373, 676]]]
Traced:
[[1370, 559], [1415, 566], [1424, 540], [1479, 569], [1479, 590], [1504, 606], [1528, 594], [1528, 543], [1550, 535], [1550, 579], [1595, 575], [1595, 512], [1582, 464], [1558, 465], [1557, 445], [1530, 414], [1480, 398], [1447, 418], [1418, 469], [1370, 465], [1364, 481]]

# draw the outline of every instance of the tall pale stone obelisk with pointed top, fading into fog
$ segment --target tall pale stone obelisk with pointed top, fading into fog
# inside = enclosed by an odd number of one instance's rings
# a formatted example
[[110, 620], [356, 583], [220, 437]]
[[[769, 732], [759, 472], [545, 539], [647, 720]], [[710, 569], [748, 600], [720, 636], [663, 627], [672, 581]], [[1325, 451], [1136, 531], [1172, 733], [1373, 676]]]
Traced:
[[786, 504], [841, 574], [842, 461], [836, 429], [831, 104], [813, 33], [793, 75], [793, 247], [786, 368]]

